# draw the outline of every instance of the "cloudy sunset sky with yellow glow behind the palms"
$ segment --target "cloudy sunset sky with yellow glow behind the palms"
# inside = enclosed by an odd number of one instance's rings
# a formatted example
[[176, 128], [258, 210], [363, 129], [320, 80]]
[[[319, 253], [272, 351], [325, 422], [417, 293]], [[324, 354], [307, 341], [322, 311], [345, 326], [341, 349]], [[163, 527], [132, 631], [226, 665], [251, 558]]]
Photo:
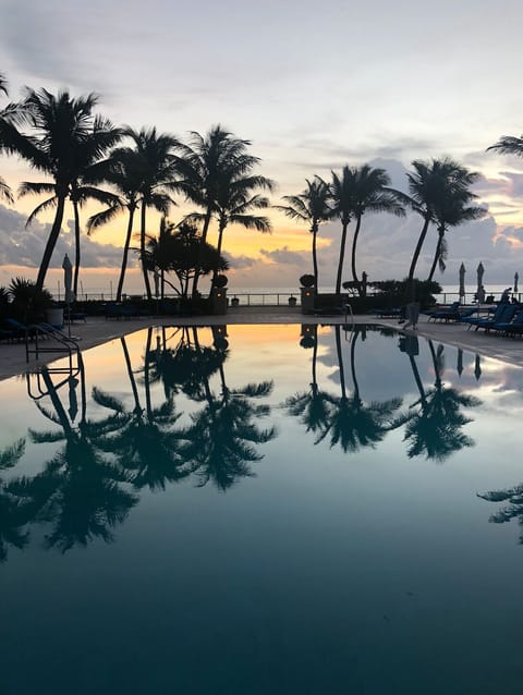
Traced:
[[[328, 180], [344, 164], [365, 162], [385, 168], [406, 192], [414, 159], [451, 156], [482, 174], [475, 193], [488, 215], [450, 230], [447, 270], [435, 279], [457, 284], [463, 261], [472, 283], [479, 260], [487, 291], [511, 284], [515, 271], [523, 277], [523, 159], [485, 151], [501, 135], [523, 132], [521, 2], [0, 0], [0, 72], [11, 100], [24, 85], [95, 92], [99, 112], [115, 124], [155, 125], [181, 139], [220, 123], [252, 141], [259, 173], [278, 184], [275, 205], [314, 174]], [[0, 175], [13, 190], [41, 180], [7, 157]], [[0, 204], [0, 285], [13, 276], [36, 278], [51, 219], [25, 228], [38, 202]], [[175, 222], [190, 211], [179, 203]], [[71, 218], [69, 210], [51, 291], [63, 254], [73, 251]], [[273, 210], [270, 218], [270, 235], [226, 232], [230, 288], [292, 288], [312, 271], [306, 227]], [[150, 224], [156, 232], [155, 218]], [[360, 271], [369, 280], [405, 277], [421, 225], [414, 214], [367, 216]], [[85, 291], [115, 283], [124, 228], [122, 217], [84, 236]], [[320, 229], [320, 289], [333, 284], [339, 239], [338, 223]], [[428, 275], [435, 243], [431, 230], [419, 277]], [[129, 285], [141, 286], [137, 272]]]

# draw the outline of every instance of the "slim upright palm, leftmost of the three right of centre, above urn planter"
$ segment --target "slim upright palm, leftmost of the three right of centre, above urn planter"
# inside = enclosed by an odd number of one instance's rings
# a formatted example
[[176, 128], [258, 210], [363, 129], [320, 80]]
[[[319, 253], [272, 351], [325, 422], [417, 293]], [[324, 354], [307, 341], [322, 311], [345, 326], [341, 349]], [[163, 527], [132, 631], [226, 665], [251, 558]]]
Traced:
[[318, 288], [318, 258], [316, 241], [321, 222], [326, 222], [331, 215], [329, 200], [330, 188], [320, 176], [315, 175], [312, 181], [305, 179], [307, 187], [297, 195], [284, 195], [283, 200], [288, 205], [275, 205], [277, 210], [282, 210], [293, 220], [300, 220], [309, 224], [313, 235], [313, 273], [314, 286]]

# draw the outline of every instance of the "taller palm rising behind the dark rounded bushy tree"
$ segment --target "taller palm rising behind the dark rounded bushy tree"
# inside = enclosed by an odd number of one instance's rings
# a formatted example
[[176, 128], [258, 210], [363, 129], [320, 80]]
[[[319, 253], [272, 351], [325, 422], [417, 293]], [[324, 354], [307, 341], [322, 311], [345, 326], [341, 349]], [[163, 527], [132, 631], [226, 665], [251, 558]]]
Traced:
[[[240, 139], [221, 125], [215, 125], [205, 137], [192, 132], [188, 145], [182, 146], [178, 190], [203, 210], [203, 244], [207, 241], [222, 176], [246, 175], [259, 162], [258, 157], [246, 153], [250, 145], [250, 141]], [[198, 279], [199, 264], [193, 280], [193, 297], [197, 293]]]

